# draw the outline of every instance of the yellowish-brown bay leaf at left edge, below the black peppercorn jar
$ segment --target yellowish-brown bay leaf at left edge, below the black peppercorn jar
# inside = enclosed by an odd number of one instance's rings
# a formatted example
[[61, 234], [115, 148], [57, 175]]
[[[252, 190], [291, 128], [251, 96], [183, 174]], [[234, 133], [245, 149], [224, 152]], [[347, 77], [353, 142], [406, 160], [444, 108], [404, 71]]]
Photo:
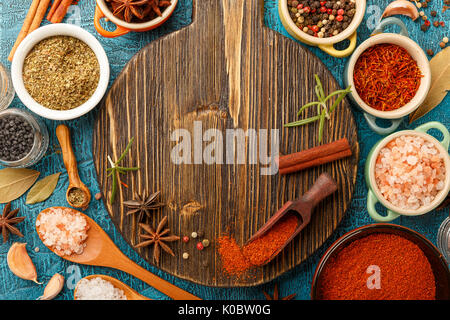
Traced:
[[36, 182], [39, 171], [6, 168], [0, 170], [0, 203], [19, 198]]

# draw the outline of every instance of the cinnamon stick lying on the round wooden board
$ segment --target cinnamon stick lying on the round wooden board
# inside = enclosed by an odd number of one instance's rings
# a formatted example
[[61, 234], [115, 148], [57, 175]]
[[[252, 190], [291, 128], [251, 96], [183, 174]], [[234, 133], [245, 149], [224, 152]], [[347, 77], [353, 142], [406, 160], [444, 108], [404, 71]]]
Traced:
[[301, 163], [311, 162], [312, 160], [337, 154], [342, 151], [350, 150], [350, 144], [347, 138], [342, 138], [334, 142], [314, 147], [297, 153], [281, 156], [278, 159], [278, 168], [284, 169]]

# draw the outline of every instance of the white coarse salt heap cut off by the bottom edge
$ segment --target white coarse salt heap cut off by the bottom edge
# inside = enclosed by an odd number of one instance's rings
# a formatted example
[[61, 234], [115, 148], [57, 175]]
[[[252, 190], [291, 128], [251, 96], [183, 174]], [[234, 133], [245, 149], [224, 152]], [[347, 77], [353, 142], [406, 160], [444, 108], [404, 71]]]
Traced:
[[75, 291], [77, 300], [127, 300], [123, 290], [100, 277], [81, 279]]

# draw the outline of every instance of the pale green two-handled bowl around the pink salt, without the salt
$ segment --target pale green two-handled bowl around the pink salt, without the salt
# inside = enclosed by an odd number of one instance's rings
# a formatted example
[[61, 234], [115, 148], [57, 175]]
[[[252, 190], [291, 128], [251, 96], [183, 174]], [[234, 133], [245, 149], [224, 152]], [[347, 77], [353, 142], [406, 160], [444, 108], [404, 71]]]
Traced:
[[[443, 140], [438, 141], [436, 138], [429, 135], [427, 132], [431, 129], [439, 130], [444, 136]], [[375, 164], [381, 149], [383, 149], [393, 139], [403, 135], [420, 136], [426, 141], [432, 142], [444, 159], [445, 165], [444, 188], [438, 192], [435, 199], [430, 204], [423, 205], [417, 210], [404, 209], [393, 205], [381, 194], [375, 179]], [[384, 139], [380, 140], [377, 144], [375, 144], [375, 146], [372, 148], [372, 150], [369, 152], [369, 155], [367, 156], [365, 166], [365, 177], [368, 188], [367, 210], [372, 219], [378, 222], [389, 222], [396, 219], [400, 215], [404, 216], [422, 215], [434, 210], [437, 206], [439, 206], [445, 200], [447, 194], [450, 191], [450, 156], [448, 154], [449, 143], [450, 143], [450, 134], [447, 128], [440, 122], [434, 121], [425, 123], [414, 130], [398, 131], [385, 137]], [[375, 208], [375, 205], [378, 202], [387, 209], [387, 215], [383, 216], [378, 213], [377, 209]]]

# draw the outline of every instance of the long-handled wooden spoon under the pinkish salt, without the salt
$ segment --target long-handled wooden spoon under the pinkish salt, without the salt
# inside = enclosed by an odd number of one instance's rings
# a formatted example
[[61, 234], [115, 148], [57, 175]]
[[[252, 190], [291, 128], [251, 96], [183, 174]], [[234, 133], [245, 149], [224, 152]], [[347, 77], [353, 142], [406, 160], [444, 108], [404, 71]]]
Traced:
[[[166, 294], [172, 299], [200, 300], [200, 298], [182, 290], [181, 288], [178, 288], [177, 286], [171, 284], [170, 282], [167, 282], [164, 279], [161, 279], [160, 277], [154, 275], [150, 271], [145, 270], [144, 268], [133, 262], [130, 258], [123, 254], [122, 251], [119, 250], [119, 248], [116, 247], [116, 245], [111, 240], [111, 238], [108, 237], [106, 232], [103, 231], [103, 229], [87, 215], [72, 208], [53, 208], [70, 210], [69, 212], [72, 212], [74, 214], [78, 212], [86, 219], [89, 224], [86, 247], [84, 248], [83, 253], [72, 254], [70, 256], [61, 256], [63, 259], [79, 264], [109, 267], [121, 270], [135, 276], [138, 279], [141, 279], [142, 281], [146, 282], [156, 290]], [[48, 212], [51, 209], [52, 208], [47, 208], [39, 213], [37, 220], [40, 220], [40, 216], [42, 213]], [[36, 226], [36, 231], [43, 241], [42, 236], [39, 233], [39, 226]], [[52, 248], [49, 247], [49, 249], [53, 251]]]

